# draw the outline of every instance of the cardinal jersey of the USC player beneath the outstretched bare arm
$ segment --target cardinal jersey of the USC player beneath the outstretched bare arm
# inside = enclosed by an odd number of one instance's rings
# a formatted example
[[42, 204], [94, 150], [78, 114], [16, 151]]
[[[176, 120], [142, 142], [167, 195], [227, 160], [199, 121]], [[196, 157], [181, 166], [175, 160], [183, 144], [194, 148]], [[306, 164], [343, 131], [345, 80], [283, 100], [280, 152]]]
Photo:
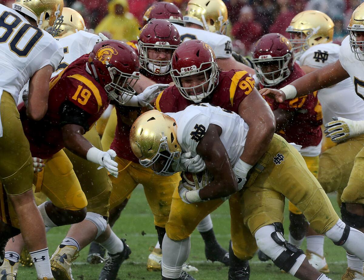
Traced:
[[[292, 73], [289, 77], [276, 86], [271, 88], [280, 89], [294, 80], [302, 77], [305, 73], [297, 63], [294, 64]], [[264, 86], [260, 85], [260, 88]], [[278, 103], [274, 99], [264, 96], [270, 108], [274, 111], [282, 109], [295, 112], [293, 120], [284, 129], [278, 132], [288, 143], [293, 142], [302, 146], [301, 152], [305, 152], [304, 148], [312, 147], [313, 151], [306, 151], [305, 156], [317, 156], [320, 154], [320, 147], [317, 151], [313, 147], [317, 147], [322, 139], [320, 125], [322, 124], [322, 110], [320, 102], [317, 99], [317, 92], [308, 94], [303, 97], [289, 99], [283, 103]], [[316, 154], [317, 153], [317, 154]], [[315, 155], [314, 155], [315, 154]]]

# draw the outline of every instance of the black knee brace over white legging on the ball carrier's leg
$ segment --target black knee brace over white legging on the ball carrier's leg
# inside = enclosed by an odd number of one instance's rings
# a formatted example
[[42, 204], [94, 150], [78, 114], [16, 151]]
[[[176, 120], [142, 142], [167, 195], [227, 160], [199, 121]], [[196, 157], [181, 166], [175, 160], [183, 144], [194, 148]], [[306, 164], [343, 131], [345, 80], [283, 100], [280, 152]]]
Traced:
[[283, 237], [282, 223], [264, 226], [257, 230], [256, 241], [259, 249], [269, 256], [279, 269], [294, 275], [304, 257], [304, 252], [288, 243]]

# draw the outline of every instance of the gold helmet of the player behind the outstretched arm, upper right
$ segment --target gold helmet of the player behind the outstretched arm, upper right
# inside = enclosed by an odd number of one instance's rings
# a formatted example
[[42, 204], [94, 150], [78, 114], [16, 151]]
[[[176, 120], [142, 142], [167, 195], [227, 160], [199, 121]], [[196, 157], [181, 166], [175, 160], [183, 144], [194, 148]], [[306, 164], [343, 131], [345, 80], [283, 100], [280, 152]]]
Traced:
[[[334, 23], [331, 18], [320, 11], [308, 10], [298, 13], [291, 20], [287, 32], [293, 45], [294, 59], [298, 59], [308, 48], [332, 42]], [[296, 39], [294, 33], [300, 34]]]

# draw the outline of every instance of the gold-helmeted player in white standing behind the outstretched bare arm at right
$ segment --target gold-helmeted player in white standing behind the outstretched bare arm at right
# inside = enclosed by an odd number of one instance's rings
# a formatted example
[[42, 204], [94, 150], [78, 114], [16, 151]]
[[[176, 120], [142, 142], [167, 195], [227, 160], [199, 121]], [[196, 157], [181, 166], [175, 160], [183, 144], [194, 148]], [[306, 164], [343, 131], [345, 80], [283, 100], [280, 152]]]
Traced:
[[[332, 20], [320, 11], [304, 11], [292, 19], [287, 32], [290, 33], [290, 41], [295, 50], [294, 58], [306, 74], [339, 59], [340, 46], [332, 43], [333, 30]], [[328, 123], [333, 116], [355, 121], [364, 120], [364, 102], [355, 93], [350, 78], [330, 88], [319, 90], [317, 97], [323, 106], [324, 123]], [[330, 138], [325, 139], [317, 179], [326, 193], [336, 190], [340, 201], [341, 194], [348, 184], [355, 156], [364, 145], [364, 137], [356, 136], [339, 145]], [[335, 145], [337, 146], [334, 147]], [[339, 154], [345, 156], [336, 160]], [[324, 237], [308, 232], [307, 248], [312, 257], [309, 262], [316, 263], [314, 267], [320, 268], [324, 264], [321, 261], [324, 260]], [[348, 267], [355, 270], [351, 261], [352, 256], [348, 255], [347, 258]]]

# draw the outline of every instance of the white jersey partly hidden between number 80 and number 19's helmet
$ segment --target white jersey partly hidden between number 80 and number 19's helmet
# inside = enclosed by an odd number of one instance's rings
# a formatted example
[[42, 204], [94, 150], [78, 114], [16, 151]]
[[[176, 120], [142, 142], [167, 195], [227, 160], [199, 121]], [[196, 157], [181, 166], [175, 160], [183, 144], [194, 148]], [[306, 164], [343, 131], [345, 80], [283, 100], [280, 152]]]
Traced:
[[56, 38], [56, 40], [63, 48], [64, 57], [57, 70], [52, 74], [52, 77], [55, 77], [80, 56], [89, 54], [98, 40], [100, 40], [100, 37], [81, 30], [64, 38]]

